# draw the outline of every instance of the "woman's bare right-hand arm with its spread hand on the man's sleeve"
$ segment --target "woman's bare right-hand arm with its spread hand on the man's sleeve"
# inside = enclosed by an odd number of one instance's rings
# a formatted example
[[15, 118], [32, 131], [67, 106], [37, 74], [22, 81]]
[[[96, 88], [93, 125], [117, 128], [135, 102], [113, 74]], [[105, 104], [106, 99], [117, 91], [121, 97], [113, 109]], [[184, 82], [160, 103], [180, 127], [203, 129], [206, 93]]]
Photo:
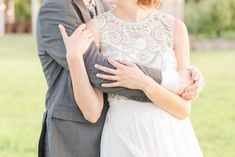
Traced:
[[[177, 58], [177, 70], [187, 70], [189, 66], [189, 39], [186, 26], [181, 21], [175, 20], [174, 32], [174, 50]], [[157, 106], [175, 117], [183, 119], [190, 114], [190, 100], [185, 100], [178, 94], [163, 88], [150, 77], [146, 76], [135, 64], [129, 61], [123, 61], [122, 63], [128, 67], [124, 68], [123, 65], [120, 65], [112, 59], [109, 59], [109, 62], [116, 67], [115, 71], [110, 70], [108, 72], [115, 76], [112, 77], [112, 79], [116, 80], [116, 82], [104, 84], [105, 87], [121, 86], [143, 90]], [[97, 68], [103, 71], [102, 66], [98, 66]], [[110, 76], [112, 75], [99, 74], [98, 77], [110, 80]], [[192, 80], [191, 84], [194, 82], [195, 80]]]

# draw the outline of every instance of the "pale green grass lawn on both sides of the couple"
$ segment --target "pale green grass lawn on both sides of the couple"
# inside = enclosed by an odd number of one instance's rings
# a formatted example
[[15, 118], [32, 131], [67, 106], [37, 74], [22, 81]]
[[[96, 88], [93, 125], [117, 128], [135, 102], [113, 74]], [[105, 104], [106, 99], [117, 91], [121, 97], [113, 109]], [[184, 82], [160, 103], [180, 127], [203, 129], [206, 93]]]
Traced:
[[[205, 157], [235, 156], [235, 52], [197, 52], [206, 87], [192, 123]], [[0, 157], [36, 157], [46, 83], [32, 36], [0, 38]]]

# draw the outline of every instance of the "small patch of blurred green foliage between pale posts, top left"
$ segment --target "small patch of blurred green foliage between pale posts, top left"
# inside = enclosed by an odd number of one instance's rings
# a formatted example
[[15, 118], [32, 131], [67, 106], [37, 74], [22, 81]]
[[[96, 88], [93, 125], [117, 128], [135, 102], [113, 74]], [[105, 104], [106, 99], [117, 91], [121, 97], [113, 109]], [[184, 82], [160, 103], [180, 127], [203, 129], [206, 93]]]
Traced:
[[15, 0], [16, 22], [28, 22], [31, 20], [30, 2], [30, 0]]

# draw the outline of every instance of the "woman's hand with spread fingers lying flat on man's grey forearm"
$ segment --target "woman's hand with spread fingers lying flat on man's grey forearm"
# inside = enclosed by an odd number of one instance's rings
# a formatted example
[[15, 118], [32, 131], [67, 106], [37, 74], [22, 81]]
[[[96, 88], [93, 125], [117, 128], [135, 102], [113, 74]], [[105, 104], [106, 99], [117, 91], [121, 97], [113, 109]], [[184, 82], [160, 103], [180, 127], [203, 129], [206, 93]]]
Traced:
[[129, 89], [143, 89], [145, 78], [147, 77], [136, 64], [130, 61], [121, 63], [109, 58], [109, 63], [116, 69], [110, 69], [101, 65], [95, 67], [106, 74], [98, 73], [97, 77], [114, 81], [113, 83], [102, 84], [103, 87], [125, 87]]

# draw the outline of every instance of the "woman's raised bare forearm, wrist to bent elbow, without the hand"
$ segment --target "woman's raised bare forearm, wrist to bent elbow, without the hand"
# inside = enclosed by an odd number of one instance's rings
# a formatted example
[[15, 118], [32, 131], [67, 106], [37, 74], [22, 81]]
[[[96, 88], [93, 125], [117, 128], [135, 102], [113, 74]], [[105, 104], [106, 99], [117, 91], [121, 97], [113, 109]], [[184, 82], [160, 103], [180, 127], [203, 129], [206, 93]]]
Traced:
[[91, 123], [96, 123], [103, 109], [103, 93], [92, 87], [83, 58], [68, 59], [70, 75], [76, 102], [84, 118]]

